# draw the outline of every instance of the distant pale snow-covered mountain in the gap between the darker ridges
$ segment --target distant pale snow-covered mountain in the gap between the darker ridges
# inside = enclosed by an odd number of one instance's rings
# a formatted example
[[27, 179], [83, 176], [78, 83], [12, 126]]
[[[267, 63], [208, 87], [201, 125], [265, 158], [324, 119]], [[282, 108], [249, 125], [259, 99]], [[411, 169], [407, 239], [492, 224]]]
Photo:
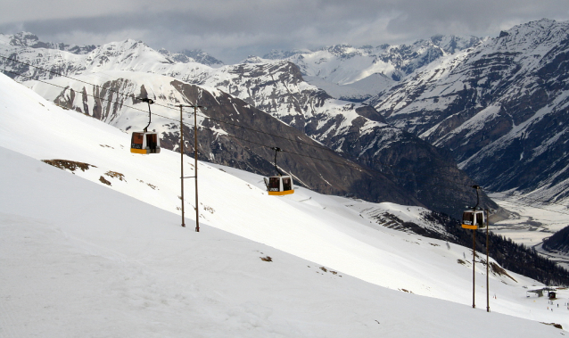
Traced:
[[478, 37], [434, 36], [411, 45], [332, 45], [318, 50], [273, 50], [263, 59], [296, 64], [307, 81], [334, 98], [361, 102], [442, 56], [482, 41]]

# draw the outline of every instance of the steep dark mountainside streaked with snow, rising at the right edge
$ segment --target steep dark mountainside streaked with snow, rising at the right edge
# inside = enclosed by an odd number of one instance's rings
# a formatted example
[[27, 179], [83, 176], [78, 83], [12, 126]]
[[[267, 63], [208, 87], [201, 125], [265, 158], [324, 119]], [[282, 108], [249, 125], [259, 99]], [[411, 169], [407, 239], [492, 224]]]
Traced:
[[495, 191], [569, 195], [569, 22], [533, 21], [442, 57], [372, 104], [385, 119], [448, 150]]

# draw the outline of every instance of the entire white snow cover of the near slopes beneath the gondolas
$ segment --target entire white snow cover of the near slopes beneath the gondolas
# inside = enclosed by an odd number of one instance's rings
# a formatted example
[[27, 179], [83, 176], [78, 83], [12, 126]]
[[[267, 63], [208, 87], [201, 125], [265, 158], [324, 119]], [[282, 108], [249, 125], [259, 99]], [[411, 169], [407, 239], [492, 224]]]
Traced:
[[[200, 162], [201, 231], [191, 181], [180, 227], [180, 154], [131, 154], [129, 138], [0, 75], [0, 336], [501, 338], [569, 327], [569, 309], [526, 298], [542, 285], [513, 273], [490, 276], [486, 313], [480, 263], [472, 309], [472, 265], [458, 264], [468, 249], [360, 213], [420, 222], [421, 208], [298, 187], [268, 196], [262, 177]], [[52, 159], [96, 168], [39, 161]]]

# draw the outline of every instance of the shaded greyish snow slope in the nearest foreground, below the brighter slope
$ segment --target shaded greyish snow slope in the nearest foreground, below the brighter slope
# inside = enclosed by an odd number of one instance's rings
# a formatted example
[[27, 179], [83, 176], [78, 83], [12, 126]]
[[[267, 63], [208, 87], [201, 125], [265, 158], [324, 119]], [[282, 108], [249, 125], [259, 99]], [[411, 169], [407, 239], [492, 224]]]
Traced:
[[[3, 337], [560, 332], [334, 275], [213, 227], [195, 233], [177, 215], [19, 153], [1, 148], [0, 157], [10, 163], [0, 170], [12, 192], [0, 210]], [[267, 256], [273, 261], [260, 260]]]

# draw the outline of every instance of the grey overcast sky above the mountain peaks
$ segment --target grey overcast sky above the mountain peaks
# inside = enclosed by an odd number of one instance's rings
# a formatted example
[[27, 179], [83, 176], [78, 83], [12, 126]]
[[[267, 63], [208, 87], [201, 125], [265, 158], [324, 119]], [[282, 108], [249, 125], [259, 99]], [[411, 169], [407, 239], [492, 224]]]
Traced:
[[402, 44], [435, 34], [495, 37], [542, 18], [569, 21], [568, 0], [4, 0], [0, 33], [103, 45], [126, 38], [226, 63], [271, 49]]

